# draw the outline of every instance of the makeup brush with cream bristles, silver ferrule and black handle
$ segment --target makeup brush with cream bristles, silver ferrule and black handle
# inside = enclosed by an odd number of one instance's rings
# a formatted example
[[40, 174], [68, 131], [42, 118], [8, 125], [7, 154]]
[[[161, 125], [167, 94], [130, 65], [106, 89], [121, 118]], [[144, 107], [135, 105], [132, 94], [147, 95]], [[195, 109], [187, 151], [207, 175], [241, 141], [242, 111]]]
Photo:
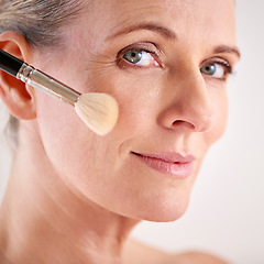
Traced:
[[0, 50], [0, 69], [75, 107], [79, 118], [99, 135], [109, 133], [118, 120], [118, 102], [99, 92], [79, 94], [51, 76]]

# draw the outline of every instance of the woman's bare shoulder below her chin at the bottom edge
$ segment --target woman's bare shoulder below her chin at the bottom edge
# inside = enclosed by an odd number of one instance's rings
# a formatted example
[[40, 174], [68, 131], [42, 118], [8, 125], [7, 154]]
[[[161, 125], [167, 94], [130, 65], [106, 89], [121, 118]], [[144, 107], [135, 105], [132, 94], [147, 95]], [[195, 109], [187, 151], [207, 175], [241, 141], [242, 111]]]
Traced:
[[125, 264], [228, 264], [218, 256], [204, 252], [185, 252], [169, 254], [144, 245], [136, 241], [129, 241], [124, 251]]

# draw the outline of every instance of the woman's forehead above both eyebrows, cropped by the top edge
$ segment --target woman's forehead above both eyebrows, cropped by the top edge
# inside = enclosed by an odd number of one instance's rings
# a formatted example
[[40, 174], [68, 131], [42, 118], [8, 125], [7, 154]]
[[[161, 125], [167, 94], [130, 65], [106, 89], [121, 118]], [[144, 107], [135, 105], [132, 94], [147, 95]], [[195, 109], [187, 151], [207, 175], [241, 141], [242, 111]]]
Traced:
[[97, 0], [90, 14], [110, 33], [133, 23], [156, 22], [179, 35], [224, 34], [233, 41], [235, 35], [233, 0]]

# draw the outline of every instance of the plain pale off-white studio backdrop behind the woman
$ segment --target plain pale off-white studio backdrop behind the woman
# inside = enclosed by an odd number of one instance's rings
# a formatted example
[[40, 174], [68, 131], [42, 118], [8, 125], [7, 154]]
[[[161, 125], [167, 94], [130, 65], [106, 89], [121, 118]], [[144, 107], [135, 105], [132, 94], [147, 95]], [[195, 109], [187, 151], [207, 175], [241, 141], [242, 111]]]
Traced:
[[[264, 1], [237, 0], [237, 18], [242, 59], [229, 81], [227, 132], [207, 155], [186, 215], [172, 223], [143, 222], [133, 237], [169, 252], [202, 250], [237, 264], [262, 264]], [[0, 106], [1, 131], [6, 120], [7, 112]], [[3, 136], [0, 138], [2, 197], [11, 158]]]

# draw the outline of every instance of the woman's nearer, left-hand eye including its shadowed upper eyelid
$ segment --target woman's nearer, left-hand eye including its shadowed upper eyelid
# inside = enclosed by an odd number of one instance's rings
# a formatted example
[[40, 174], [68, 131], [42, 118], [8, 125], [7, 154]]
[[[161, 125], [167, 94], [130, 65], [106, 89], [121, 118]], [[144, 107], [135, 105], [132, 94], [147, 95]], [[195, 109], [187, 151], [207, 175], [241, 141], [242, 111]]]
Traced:
[[152, 43], [138, 43], [119, 52], [118, 64], [121, 67], [160, 67], [158, 52]]

